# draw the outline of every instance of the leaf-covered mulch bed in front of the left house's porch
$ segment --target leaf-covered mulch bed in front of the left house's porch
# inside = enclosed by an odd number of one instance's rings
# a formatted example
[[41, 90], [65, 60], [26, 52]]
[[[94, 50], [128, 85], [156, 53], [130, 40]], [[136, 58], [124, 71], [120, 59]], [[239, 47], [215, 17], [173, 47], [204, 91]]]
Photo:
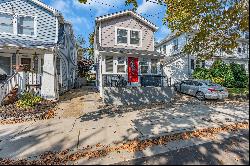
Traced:
[[32, 120], [42, 120], [53, 118], [55, 114], [56, 103], [51, 101], [42, 101], [34, 108], [21, 109], [15, 104], [0, 107], [0, 124], [22, 123]]

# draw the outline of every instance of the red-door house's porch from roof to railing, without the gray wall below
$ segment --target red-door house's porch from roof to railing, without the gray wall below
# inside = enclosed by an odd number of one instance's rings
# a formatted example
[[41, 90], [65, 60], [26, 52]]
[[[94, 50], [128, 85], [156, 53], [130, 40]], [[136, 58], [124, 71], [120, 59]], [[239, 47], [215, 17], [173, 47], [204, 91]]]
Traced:
[[164, 87], [171, 78], [162, 73], [163, 57], [155, 52], [100, 51], [97, 64], [97, 86], [103, 96], [104, 87]]

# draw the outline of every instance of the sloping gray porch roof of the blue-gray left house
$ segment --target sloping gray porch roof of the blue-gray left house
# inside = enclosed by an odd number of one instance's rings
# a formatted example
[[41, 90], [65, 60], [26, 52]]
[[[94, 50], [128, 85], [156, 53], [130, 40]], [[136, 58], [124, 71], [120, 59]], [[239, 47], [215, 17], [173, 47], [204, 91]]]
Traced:
[[48, 49], [48, 48], [53, 47], [54, 45], [55, 45], [55, 43], [52, 43], [52, 42], [0, 38], [0, 47], [21, 47], [21, 48]]

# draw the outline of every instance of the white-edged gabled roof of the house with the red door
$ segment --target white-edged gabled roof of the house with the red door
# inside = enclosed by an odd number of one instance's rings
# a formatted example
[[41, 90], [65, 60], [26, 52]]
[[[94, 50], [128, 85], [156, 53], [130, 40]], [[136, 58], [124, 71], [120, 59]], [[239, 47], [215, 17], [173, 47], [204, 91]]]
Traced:
[[111, 14], [99, 16], [99, 17], [96, 17], [96, 22], [115, 18], [115, 17], [120, 17], [120, 16], [124, 16], [124, 15], [131, 15], [132, 17], [135, 17], [135, 18], [141, 20], [142, 22], [144, 22], [146, 25], [148, 25], [149, 27], [151, 27], [155, 31], [158, 29], [158, 27], [155, 24], [153, 24], [152, 22], [150, 22], [149, 20], [147, 20], [146, 18], [142, 17], [141, 15], [139, 15], [138, 13], [136, 13], [132, 10], [124, 10], [124, 11], [120, 11], [120, 12], [116, 12], [116, 13], [111, 13]]

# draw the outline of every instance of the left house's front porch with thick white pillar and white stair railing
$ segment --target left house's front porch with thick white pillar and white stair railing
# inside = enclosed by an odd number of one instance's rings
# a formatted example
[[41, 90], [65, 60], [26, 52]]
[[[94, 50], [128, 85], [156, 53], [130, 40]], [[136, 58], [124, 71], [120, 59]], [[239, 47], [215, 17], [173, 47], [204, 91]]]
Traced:
[[0, 48], [0, 101], [14, 88], [46, 99], [57, 98], [56, 62], [52, 49]]

